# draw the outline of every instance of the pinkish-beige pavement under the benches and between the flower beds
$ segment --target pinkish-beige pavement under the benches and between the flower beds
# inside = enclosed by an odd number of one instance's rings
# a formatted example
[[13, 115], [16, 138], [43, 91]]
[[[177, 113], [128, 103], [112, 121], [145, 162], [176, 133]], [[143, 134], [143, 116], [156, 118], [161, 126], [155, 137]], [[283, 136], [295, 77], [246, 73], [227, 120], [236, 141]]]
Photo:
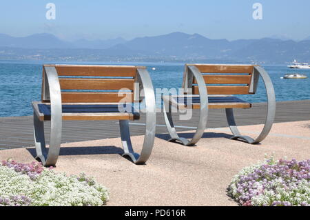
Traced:
[[[261, 128], [242, 126], [240, 130], [256, 135]], [[183, 135], [189, 134], [192, 131]], [[229, 137], [228, 128], [208, 129], [196, 147], [185, 147], [158, 134], [152, 155], [142, 166], [121, 157], [120, 138], [65, 143], [55, 170], [93, 176], [110, 190], [107, 206], [237, 206], [227, 196], [227, 186], [240, 169], [265, 154], [276, 159], [310, 158], [310, 121], [276, 123], [258, 145]], [[132, 137], [132, 142], [142, 146], [143, 137]], [[33, 155], [34, 148], [1, 150], [0, 161], [12, 157], [30, 162]]]

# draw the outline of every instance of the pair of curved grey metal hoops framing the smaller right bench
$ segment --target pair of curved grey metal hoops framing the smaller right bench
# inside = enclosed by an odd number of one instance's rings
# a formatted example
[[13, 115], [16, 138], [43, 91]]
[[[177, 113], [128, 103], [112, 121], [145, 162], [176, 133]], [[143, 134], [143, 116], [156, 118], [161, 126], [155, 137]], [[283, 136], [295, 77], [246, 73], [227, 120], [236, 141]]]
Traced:
[[[203, 74], [198, 70], [198, 68], [196, 68], [196, 66], [186, 65], [184, 74], [184, 83], [183, 83], [183, 88], [185, 90], [189, 88], [189, 86], [192, 86], [191, 80], [193, 79], [193, 76], [196, 78], [198, 84], [198, 90], [200, 96], [200, 117], [196, 132], [192, 139], [188, 140], [178, 136], [172, 120], [172, 102], [165, 97], [163, 98], [164, 101], [163, 112], [165, 115], [165, 123], [171, 137], [171, 139], [169, 139], [168, 141], [180, 141], [180, 143], [183, 143], [183, 145], [185, 146], [194, 146], [203, 136], [203, 133], [207, 125], [208, 93], [205, 79], [203, 79]], [[254, 72], [253, 76], [251, 77], [251, 84], [249, 85], [250, 86], [249, 90], [251, 90], [251, 92], [253, 93], [256, 92], [259, 77], [262, 77], [267, 92], [267, 116], [265, 119], [265, 126], [258, 135], [258, 137], [256, 137], [256, 139], [253, 139], [247, 135], [242, 135], [240, 134], [238, 127], [236, 126], [233, 109], [225, 108], [229, 128], [231, 132], [234, 134], [234, 137], [231, 137], [231, 139], [235, 140], [241, 139], [243, 141], [246, 141], [247, 143], [256, 144], [260, 143], [260, 141], [265, 139], [265, 137], [267, 137], [267, 135], [271, 130], [273, 120], [276, 114], [276, 95], [269, 74], [260, 66], [254, 66]], [[188, 95], [190, 96], [191, 94]]]

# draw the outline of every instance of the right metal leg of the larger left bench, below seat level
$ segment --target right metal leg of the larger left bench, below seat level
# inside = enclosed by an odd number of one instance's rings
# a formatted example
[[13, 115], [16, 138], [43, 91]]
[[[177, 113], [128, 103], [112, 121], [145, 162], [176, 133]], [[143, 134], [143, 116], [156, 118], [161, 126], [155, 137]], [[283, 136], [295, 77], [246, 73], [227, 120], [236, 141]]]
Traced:
[[152, 130], [146, 131], [141, 154], [134, 152], [134, 149], [132, 148], [132, 141], [130, 139], [129, 121], [120, 120], [119, 127], [121, 130], [121, 140], [124, 149], [123, 157], [130, 157], [130, 159], [132, 159], [132, 161], [136, 164], [145, 163], [147, 159], [149, 159], [149, 156], [151, 155], [152, 148], [154, 145], [155, 126], [153, 126]]

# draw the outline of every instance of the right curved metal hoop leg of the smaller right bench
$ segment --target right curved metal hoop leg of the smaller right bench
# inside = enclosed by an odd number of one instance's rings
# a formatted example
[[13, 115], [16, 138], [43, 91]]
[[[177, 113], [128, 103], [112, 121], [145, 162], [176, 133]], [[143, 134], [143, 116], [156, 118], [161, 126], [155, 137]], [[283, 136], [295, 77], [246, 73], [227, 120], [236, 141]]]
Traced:
[[231, 132], [234, 134], [234, 137], [232, 137], [231, 139], [234, 139], [234, 140], [242, 139], [244, 141], [247, 141], [247, 143], [251, 143], [251, 144], [260, 143], [260, 141], [262, 141], [263, 139], [265, 139], [265, 137], [267, 137], [267, 135], [269, 134], [271, 130], [273, 120], [276, 114], [276, 95], [273, 89], [271, 79], [269, 75], [267, 74], [267, 72], [261, 67], [255, 67], [255, 69], [258, 71], [258, 73], [262, 77], [262, 80], [265, 83], [265, 89], [267, 92], [267, 116], [265, 120], [265, 126], [264, 128], [262, 128], [262, 132], [260, 132], [260, 134], [258, 135], [258, 137], [256, 137], [256, 139], [252, 139], [249, 136], [240, 134], [236, 126], [236, 121], [234, 119], [234, 111], [231, 108], [226, 109], [227, 122], [228, 122]]

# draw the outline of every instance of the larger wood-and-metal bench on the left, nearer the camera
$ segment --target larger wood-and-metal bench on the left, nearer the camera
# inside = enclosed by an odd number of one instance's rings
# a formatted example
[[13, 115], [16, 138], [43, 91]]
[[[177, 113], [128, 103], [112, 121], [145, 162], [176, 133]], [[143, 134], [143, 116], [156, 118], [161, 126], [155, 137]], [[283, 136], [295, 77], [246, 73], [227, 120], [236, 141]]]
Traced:
[[[139, 119], [134, 103], [143, 98], [146, 132], [141, 154], [137, 154], [130, 141], [128, 121]], [[152, 152], [156, 106], [154, 88], [145, 67], [44, 65], [41, 101], [32, 102], [32, 107], [37, 159], [44, 166], [55, 166], [59, 157], [63, 120], [119, 120], [124, 157], [141, 164]], [[44, 121], [51, 121], [48, 149]]]

